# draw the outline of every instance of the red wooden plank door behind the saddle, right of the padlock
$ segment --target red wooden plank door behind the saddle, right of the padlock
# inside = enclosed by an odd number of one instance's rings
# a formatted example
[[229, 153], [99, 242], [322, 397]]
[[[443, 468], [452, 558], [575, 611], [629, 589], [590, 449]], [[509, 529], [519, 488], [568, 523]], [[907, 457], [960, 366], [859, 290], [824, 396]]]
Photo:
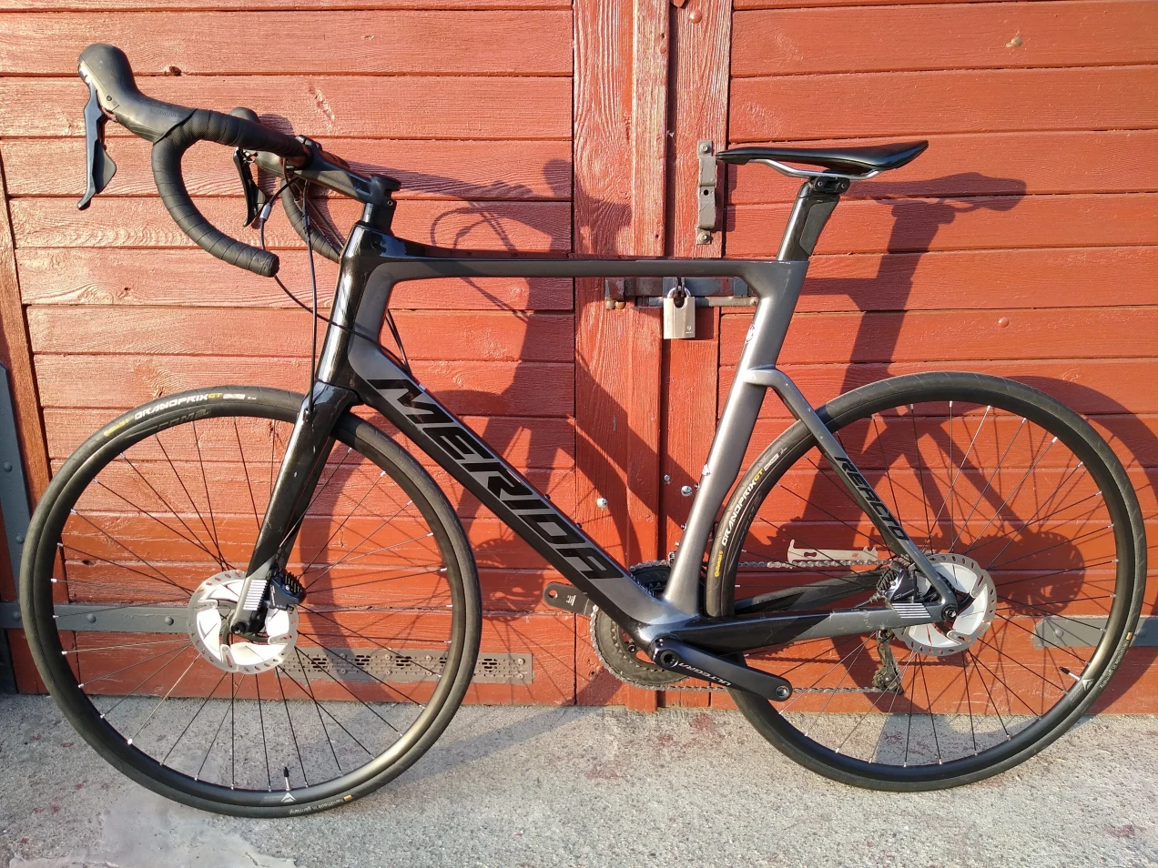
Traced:
[[[853, 184], [782, 355], [813, 403], [936, 368], [1027, 382], [1091, 418], [1153, 538], [1158, 7], [1152, 2], [736, 0], [728, 140], [929, 139]], [[727, 256], [775, 256], [798, 184], [731, 171]], [[720, 322], [720, 393], [750, 316]], [[749, 459], [786, 424], [769, 400]], [[1151, 579], [1145, 613], [1155, 611]], [[1152, 647], [1102, 706], [1158, 709]]]

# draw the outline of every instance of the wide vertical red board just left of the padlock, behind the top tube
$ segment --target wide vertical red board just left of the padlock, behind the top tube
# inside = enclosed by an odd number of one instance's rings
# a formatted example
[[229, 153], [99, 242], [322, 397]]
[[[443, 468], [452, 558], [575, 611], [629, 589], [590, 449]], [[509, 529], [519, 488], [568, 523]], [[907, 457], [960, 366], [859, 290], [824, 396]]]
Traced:
[[[637, 22], [643, 13], [652, 21]], [[657, 201], [654, 182], [644, 174], [655, 155], [654, 125], [661, 123], [654, 100], [642, 89], [666, 81], [659, 69], [667, 57], [659, 49], [667, 21], [666, 6], [645, 9], [633, 0], [584, 0], [576, 7], [577, 253], [642, 252], [633, 249], [639, 234], [648, 241], [646, 228], [654, 231], [664, 223], [662, 209], [642, 209], [646, 191], [650, 203]], [[639, 127], [645, 122], [651, 128]], [[637, 179], [646, 186], [637, 186]], [[640, 309], [606, 310], [601, 280], [576, 281], [576, 518], [624, 562], [651, 559], [658, 543], [658, 321]], [[606, 509], [596, 506], [600, 496]], [[606, 677], [609, 692], [592, 690], [598, 668], [589, 643], [579, 638], [578, 701], [655, 708], [654, 691], [618, 689]]]

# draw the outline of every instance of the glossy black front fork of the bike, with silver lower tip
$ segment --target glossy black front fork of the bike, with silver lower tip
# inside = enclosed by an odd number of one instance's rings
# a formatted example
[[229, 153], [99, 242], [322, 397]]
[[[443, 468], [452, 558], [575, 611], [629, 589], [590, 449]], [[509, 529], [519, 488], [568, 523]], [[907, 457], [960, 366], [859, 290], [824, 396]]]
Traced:
[[316, 382], [313, 396], [302, 400], [277, 481], [270, 492], [270, 502], [265, 507], [265, 517], [254, 544], [245, 581], [232, 615], [225, 619], [228, 632], [257, 634], [261, 631], [270, 579], [284, 569], [290, 559], [298, 531], [334, 448], [334, 428], [357, 399], [358, 396], [349, 389]]

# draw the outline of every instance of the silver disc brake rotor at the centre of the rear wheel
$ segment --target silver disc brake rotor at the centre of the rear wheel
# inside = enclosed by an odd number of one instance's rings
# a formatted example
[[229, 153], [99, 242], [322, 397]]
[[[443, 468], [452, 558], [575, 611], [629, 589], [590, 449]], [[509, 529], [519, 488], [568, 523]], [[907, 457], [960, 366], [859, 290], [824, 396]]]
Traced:
[[[896, 633], [910, 650], [944, 657], [972, 647], [994, 621], [997, 611], [997, 588], [992, 576], [973, 558], [941, 552], [929, 561], [959, 594], [967, 595], [957, 616], [940, 624], [921, 624]], [[922, 587], [924, 586], [924, 587]], [[929, 583], [918, 578], [917, 588], [926, 591]]]

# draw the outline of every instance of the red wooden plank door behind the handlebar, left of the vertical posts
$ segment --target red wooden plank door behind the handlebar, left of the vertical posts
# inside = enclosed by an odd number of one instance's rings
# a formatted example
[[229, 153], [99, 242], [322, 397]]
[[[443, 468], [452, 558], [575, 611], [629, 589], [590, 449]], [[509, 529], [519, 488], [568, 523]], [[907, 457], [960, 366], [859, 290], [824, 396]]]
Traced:
[[[156, 197], [147, 142], [110, 124], [117, 176], [76, 211], [86, 100], [76, 58], [90, 42], [122, 46], [152, 96], [248, 105], [358, 167], [398, 177], [402, 235], [497, 251], [572, 247], [566, 0], [273, 0], [258, 14], [234, 0], [22, 7], [34, 10], [0, 14], [0, 312], [34, 498], [88, 433], [127, 407], [214, 383], [301, 391], [308, 378], [308, 315], [272, 281], [191, 247]], [[272, 30], [261, 25], [271, 14]], [[214, 223], [254, 243], [240, 229], [229, 157], [197, 146], [185, 176]], [[358, 208], [334, 201], [331, 214], [349, 227]], [[308, 299], [306, 257], [277, 212], [267, 237], [281, 251], [281, 277]], [[324, 262], [318, 269], [324, 306], [336, 272]], [[571, 281], [430, 281], [400, 287], [393, 304], [418, 375], [573, 509]], [[529, 685], [478, 685], [471, 698], [572, 703], [576, 619], [541, 601], [554, 574], [427, 466], [476, 546], [483, 650], [533, 657]], [[10, 599], [12, 590], [0, 575], [0, 595]], [[27, 659], [22, 676], [35, 687]]]

